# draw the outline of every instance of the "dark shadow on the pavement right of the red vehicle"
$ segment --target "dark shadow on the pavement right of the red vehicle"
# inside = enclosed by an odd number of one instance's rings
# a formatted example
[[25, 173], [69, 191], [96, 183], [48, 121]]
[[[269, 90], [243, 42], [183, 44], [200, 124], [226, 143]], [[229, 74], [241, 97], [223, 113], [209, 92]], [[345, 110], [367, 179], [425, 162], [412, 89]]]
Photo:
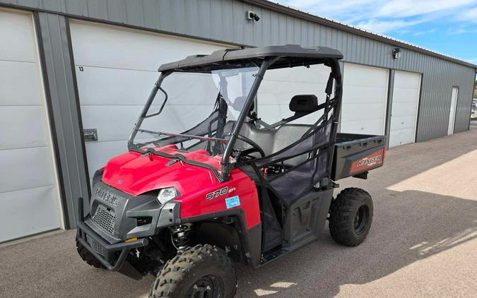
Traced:
[[477, 201], [433, 193], [389, 192], [360, 246], [322, 238], [269, 265], [241, 266], [237, 297], [334, 297], [341, 285], [363, 285], [477, 237]]

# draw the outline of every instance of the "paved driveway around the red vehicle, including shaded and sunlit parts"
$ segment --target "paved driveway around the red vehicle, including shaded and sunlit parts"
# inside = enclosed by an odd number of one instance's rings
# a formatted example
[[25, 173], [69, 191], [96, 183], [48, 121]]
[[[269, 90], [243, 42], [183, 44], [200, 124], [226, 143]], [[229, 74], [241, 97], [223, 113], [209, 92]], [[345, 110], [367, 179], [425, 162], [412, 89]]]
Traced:
[[[477, 297], [477, 130], [392, 148], [367, 181], [367, 240], [322, 239], [259, 270], [240, 266], [237, 297]], [[14, 224], [14, 223], [12, 223]], [[0, 297], [146, 297], [153, 277], [91, 268], [74, 231], [0, 248]]]

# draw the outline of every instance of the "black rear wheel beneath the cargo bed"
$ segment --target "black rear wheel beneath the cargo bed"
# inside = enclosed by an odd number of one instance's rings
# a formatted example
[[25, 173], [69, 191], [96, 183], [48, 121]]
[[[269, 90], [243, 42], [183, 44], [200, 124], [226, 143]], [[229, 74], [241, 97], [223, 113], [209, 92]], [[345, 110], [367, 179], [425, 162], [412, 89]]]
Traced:
[[329, 232], [331, 237], [346, 246], [361, 244], [372, 223], [372, 198], [363, 189], [343, 189], [331, 203]]

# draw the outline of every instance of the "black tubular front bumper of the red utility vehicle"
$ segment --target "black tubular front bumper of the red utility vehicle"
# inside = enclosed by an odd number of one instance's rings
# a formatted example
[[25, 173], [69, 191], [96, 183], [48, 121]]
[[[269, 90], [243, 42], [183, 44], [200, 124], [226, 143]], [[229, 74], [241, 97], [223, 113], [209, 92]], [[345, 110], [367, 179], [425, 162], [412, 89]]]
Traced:
[[[78, 198], [78, 208], [76, 213], [76, 239], [108, 270], [118, 271], [122, 268], [131, 249], [147, 246], [149, 243], [147, 238], [136, 239], [131, 242], [120, 242], [117, 244], [107, 243], [98, 233], [85, 224], [83, 218], [83, 198]], [[102, 247], [104, 251], [103, 255], [98, 254], [98, 252], [91, 247], [90, 243], [88, 243], [87, 237]]]

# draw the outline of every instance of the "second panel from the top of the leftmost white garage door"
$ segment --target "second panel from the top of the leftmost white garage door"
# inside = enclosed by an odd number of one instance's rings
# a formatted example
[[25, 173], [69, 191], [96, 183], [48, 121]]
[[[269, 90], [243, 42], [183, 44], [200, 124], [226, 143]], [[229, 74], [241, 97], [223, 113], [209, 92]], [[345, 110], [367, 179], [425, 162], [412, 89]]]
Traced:
[[0, 82], [8, 86], [8, 88], [0, 88], [0, 106], [42, 104], [37, 64], [0, 61]]

